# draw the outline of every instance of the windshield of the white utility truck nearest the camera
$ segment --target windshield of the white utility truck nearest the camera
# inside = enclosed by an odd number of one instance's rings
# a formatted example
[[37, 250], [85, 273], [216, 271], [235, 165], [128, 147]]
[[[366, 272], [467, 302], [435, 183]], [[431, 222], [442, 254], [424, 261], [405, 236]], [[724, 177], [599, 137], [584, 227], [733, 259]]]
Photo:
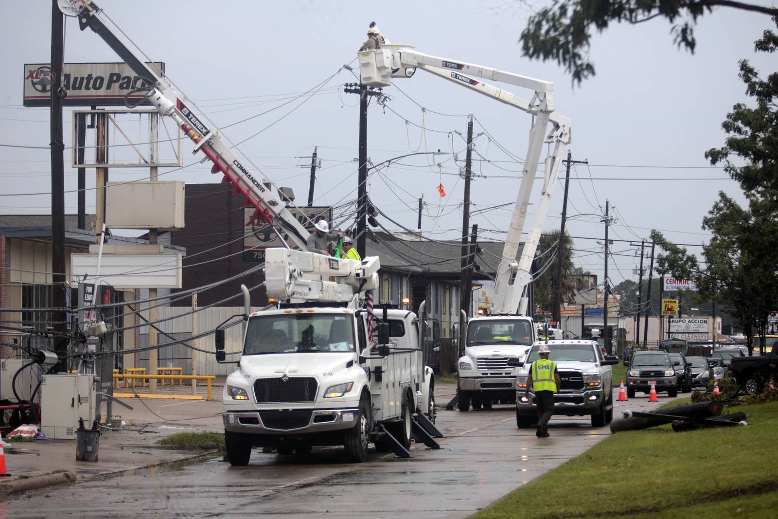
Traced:
[[248, 321], [244, 355], [300, 352], [353, 352], [349, 315], [274, 314]]

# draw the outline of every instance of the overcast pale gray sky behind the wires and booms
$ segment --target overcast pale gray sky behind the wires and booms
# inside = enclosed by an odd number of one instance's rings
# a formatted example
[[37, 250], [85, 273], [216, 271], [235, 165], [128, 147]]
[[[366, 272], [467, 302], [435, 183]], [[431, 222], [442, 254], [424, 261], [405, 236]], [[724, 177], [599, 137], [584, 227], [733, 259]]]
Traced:
[[[99, 5], [150, 58], [166, 63], [170, 79], [219, 126], [278, 107], [317, 86], [342, 65], [356, 65], [356, 49], [373, 20], [393, 43], [412, 44], [427, 54], [552, 81], [557, 111], [573, 121], [573, 159], [587, 159], [591, 164], [573, 170], [568, 214], [600, 214], [608, 199], [615, 206], [612, 216], [618, 218], [611, 237], [626, 240], [647, 237], [651, 228], [657, 228], [678, 243], [706, 242], [708, 235], [700, 229], [700, 222], [717, 191], [742, 199], [737, 184], [722, 170], [710, 168], [703, 157], [706, 149], [724, 141], [720, 124], [727, 111], [746, 99], [737, 77], [738, 60], [751, 59], [765, 73], [773, 72], [770, 65], [775, 65], [774, 57], [770, 62], [753, 52], [753, 41], [771, 26], [769, 18], [734, 9], [717, 9], [700, 19], [694, 55], [674, 46], [670, 26], [663, 19], [639, 26], [612, 26], [594, 38], [591, 48], [598, 74], [573, 87], [569, 75], [555, 63], [520, 57], [518, 37], [529, 10], [518, 2], [103, 0]], [[3, 17], [0, 144], [47, 146], [48, 110], [22, 107], [22, 72], [24, 63], [49, 61], [50, 10], [51, 2], [43, 0], [16, 2], [12, 16]], [[71, 18], [65, 61], [118, 59], [94, 33], [81, 33]], [[297, 202], [304, 203], [310, 159], [298, 157], [310, 156], [318, 146], [323, 169], [317, 177], [316, 203], [356, 198], [359, 107], [356, 96], [342, 93], [343, 83], [354, 81], [355, 76], [343, 70], [316, 95], [293, 100], [225, 133], [233, 142], [240, 142], [280, 119], [242, 144], [243, 153], [277, 184], [294, 188]], [[458, 237], [464, 181], [457, 173], [464, 165], [467, 114], [475, 114], [478, 120], [475, 133], [482, 135], [476, 139], [475, 172], [485, 176], [473, 183], [473, 209], [515, 200], [517, 172], [521, 170], [515, 157], [523, 158], [526, 153], [527, 114], [424, 72], [395, 84], [402, 92], [394, 87], [385, 91], [391, 96], [388, 107], [396, 114], [374, 104], [370, 107], [368, 154], [373, 163], [437, 149], [449, 153], [453, 149], [458, 161], [439, 156], [436, 162], [446, 161], [440, 170], [428, 166], [420, 156], [383, 170], [381, 175], [373, 174], [369, 191], [376, 205], [405, 226], [415, 227], [417, 198], [423, 195], [422, 230], [438, 238]], [[531, 96], [517, 87], [506, 89]], [[426, 112], [422, 113], [416, 103]], [[65, 114], [68, 146], [72, 141], [69, 112]], [[193, 162], [190, 150], [188, 142], [184, 143], [185, 163]], [[65, 187], [72, 190], [76, 176], [69, 160], [68, 152]], [[49, 191], [48, 161], [47, 149], [0, 148], [2, 192]], [[138, 170], [111, 170], [111, 180], [142, 175]], [[187, 183], [220, 180], [200, 165], [160, 177], [163, 179]], [[440, 183], [445, 187], [445, 198], [436, 191]], [[540, 184], [535, 184], [532, 202]], [[93, 185], [90, 170], [87, 186]], [[93, 208], [92, 191], [87, 195], [87, 210], [93, 212]], [[545, 230], [559, 228], [561, 208], [562, 186], [558, 185]], [[478, 223], [482, 230], [498, 231], [482, 233], [482, 239], [500, 239], [510, 209], [482, 212], [471, 223]], [[0, 213], [49, 211], [48, 195], [0, 197]], [[75, 213], [75, 193], [67, 195], [66, 211]], [[530, 212], [527, 226], [532, 207]], [[602, 237], [599, 220], [598, 216], [573, 217], [569, 233]], [[576, 239], [575, 247], [576, 263], [601, 274], [603, 258], [595, 241]], [[627, 249], [626, 244], [615, 244], [613, 250]], [[609, 272], [614, 284], [633, 279], [631, 269], [636, 260], [617, 255], [614, 264]]]

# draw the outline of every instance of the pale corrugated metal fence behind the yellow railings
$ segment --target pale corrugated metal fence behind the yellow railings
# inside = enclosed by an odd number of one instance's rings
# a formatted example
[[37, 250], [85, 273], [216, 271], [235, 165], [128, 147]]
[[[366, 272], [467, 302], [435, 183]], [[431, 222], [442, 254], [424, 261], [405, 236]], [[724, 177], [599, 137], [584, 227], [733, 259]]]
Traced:
[[[251, 309], [252, 312], [260, 310], [258, 307]], [[161, 307], [157, 311], [158, 319], [174, 317], [186, 314], [191, 311], [190, 307]], [[228, 317], [235, 314], [243, 314], [243, 307], [212, 307], [207, 310], [201, 310], [197, 314], [196, 334], [215, 329], [222, 324]], [[143, 312], [143, 317], [148, 318], [148, 312]], [[173, 335], [176, 338], [190, 337], [192, 333], [192, 314], [184, 315], [177, 319], [164, 321], [157, 325], [159, 329]], [[148, 345], [149, 327], [141, 328], [141, 346]], [[228, 328], [225, 332], [225, 351], [227, 360], [237, 360], [239, 356], [230, 355], [230, 352], [240, 352], [243, 349], [243, 327], [239, 325]], [[165, 338], [159, 334], [159, 343], [170, 342], [171, 339]], [[198, 338], [192, 344], [193, 346], [206, 349], [209, 352], [215, 352], [213, 336]], [[148, 366], [148, 353], [142, 352], [141, 367]], [[192, 359], [195, 361], [195, 367], [198, 375], [229, 375], [235, 370], [234, 364], [216, 363], [216, 357], [210, 353], [195, 352], [184, 345], [173, 345], [159, 350], [159, 366], [172, 366], [184, 368], [184, 373], [191, 373]]]

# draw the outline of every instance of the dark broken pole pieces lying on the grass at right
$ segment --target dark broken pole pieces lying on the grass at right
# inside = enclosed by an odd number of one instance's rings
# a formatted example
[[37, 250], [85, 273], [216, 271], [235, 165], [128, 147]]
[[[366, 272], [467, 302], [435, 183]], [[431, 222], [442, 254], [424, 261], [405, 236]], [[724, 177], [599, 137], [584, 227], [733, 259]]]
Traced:
[[[733, 425], [729, 420], [711, 420], [720, 416], [724, 410], [722, 402], [697, 402], [696, 404], [676, 405], [649, 412], [624, 412], [624, 417], [611, 422], [611, 432], [641, 430], [661, 426], [678, 421], [679, 423], [696, 423], [697, 425]], [[735, 413], [738, 414], [738, 413]], [[745, 416], [744, 416], [745, 418]], [[711, 422], [713, 423], [707, 423]], [[741, 420], [738, 420], [738, 422]], [[720, 423], [719, 423], [720, 422]], [[736, 425], [736, 424], [735, 424]], [[679, 426], [680, 427], [680, 426]]]

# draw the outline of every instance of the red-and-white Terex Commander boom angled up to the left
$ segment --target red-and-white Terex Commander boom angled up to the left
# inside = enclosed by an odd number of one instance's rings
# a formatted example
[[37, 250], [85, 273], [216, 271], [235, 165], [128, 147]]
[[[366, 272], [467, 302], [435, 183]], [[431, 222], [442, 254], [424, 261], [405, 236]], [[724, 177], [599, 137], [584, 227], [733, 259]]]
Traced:
[[220, 139], [219, 130], [204, 124], [182, 100], [183, 96], [177, 93], [173, 84], [161, 72], [149, 67], [138, 54], [135, 54], [135, 51], [124, 44], [124, 41], [100, 16], [102, 9], [90, 0], [58, 0], [58, 6], [66, 16], [75, 16], [79, 19], [81, 30], [89, 27], [103, 38], [135, 74], [152, 83], [145, 92], [145, 99], [156, 108], [159, 114], [172, 118], [184, 134], [195, 143], [193, 154], [200, 150], [205, 153], [213, 163], [211, 173], [223, 174], [223, 184], [233, 184], [233, 194], [244, 196], [244, 207], [254, 208], [249, 220], [250, 225], [272, 226], [282, 240], [286, 241], [288, 237], [297, 247], [303, 249], [306, 247], [308, 231], [286, 208], [286, 203], [275, 195], [271, 188], [265, 186], [266, 183], [270, 184], [270, 181], [265, 177], [255, 176], [233, 153], [230, 146]]

